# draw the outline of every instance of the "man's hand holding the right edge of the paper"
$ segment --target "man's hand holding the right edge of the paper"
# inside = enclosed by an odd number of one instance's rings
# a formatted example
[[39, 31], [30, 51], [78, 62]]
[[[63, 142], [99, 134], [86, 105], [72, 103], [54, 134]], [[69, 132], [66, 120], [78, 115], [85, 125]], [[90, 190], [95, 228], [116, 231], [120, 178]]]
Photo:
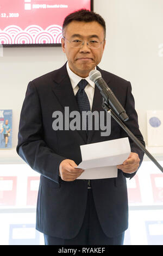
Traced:
[[121, 169], [124, 173], [134, 173], [139, 168], [139, 155], [131, 152], [128, 159], [125, 160], [122, 164], [118, 165], [117, 168]]

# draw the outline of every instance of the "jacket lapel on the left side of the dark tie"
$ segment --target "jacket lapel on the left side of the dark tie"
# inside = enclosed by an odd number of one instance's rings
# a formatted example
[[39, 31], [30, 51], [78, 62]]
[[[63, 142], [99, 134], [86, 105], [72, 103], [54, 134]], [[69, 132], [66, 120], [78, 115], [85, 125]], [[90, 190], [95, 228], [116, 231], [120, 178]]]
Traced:
[[[55, 81], [55, 84], [52, 87], [52, 90], [55, 96], [57, 96], [57, 99], [60, 102], [62, 108], [65, 110], [65, 107], [69, 107], [69, 113], [72, 111], [79, 112], [79, 107], [76, 101], [76, 97], [74, 96], [71, 81], [67, 74], [66, 64], [62, 66], [61, 69], [57, 70], [53, 76], [53, 80]], [[86, 143], [86, 131], [75, 130], [74, 132], [78, 132], [79, 135], [82, 136], [84, 143]]]

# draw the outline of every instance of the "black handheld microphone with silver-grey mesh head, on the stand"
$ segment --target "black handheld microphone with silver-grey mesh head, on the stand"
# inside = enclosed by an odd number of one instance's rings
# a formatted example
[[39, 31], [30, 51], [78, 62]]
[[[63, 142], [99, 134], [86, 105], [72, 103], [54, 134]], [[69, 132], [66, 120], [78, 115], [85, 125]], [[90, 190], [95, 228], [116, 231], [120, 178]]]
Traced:
[[90, 71], [89, 78], [96, 84], [105, 101], [110, 103], [111, 107], [115, 110], [118, 116], [121, 117], [123, 121], [127, 121], [129, 118], [126, 111], [122, 107], [121, 103], [117, 100], [112, 90], [108, 87], [108, 84], [106, 84], [106, 82], [103, 80], [101, 72], [98, 70], [92, 70]]

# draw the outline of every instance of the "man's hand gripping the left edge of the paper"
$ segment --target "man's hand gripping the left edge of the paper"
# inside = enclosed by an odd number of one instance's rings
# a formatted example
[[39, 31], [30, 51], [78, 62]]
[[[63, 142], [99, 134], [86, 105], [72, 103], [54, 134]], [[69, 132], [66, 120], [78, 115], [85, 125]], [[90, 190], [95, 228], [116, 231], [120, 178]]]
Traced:
[[74, 168], [77, 164], [70, 159], [65, 159], [60, 163], [59, 173], [64, 181], [76, 180], [83, 172], [83, 169]]

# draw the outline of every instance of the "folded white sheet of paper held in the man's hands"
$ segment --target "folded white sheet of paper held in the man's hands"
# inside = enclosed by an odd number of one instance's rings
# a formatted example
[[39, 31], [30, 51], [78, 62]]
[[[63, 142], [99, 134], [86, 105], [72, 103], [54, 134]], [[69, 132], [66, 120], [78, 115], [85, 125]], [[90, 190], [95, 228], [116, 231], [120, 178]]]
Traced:
[[117, 177], [117, 165], [130, 154], [128, 137], [80, 146], [82, 162], [76, 168], [85, 169], [77, 179]]

